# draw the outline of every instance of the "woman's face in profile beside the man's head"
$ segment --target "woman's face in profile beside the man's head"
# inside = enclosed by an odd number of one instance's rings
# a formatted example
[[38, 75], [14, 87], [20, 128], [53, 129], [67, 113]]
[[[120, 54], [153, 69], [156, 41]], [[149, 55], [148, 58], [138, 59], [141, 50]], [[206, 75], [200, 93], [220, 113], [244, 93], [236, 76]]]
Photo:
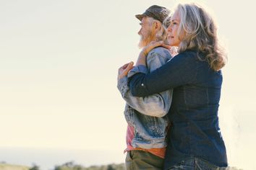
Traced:
[[179, 12], [175, 11], [171, 17], [171, 24], [167, 28], [167, 39], [171, 46], [179, 46], [181, 42], [179, 40], [178, 29], [179, 29], [180, 17]]

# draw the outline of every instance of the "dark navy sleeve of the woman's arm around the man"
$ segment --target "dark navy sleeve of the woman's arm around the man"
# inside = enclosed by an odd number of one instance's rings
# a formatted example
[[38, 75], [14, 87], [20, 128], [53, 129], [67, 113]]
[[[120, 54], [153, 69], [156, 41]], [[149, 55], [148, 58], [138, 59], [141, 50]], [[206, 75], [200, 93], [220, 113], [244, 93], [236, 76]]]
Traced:
[[195, 55], [196, 53], [180, 53], [151, 73], [140, 71], [145, 66], [135, 66], [131, 70], [132, 76], [129, 77], [129, 88], [132, 95], [146, 97], [192, 83], [197, 76], [197, 62], [202, 62], [196, 60]]

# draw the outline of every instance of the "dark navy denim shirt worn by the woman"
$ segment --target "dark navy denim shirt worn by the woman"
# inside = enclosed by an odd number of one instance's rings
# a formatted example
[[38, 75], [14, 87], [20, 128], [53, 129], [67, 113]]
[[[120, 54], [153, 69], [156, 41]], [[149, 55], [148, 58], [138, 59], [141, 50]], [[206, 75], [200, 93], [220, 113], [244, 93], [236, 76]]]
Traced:
[[218, 125], [222, 73], [213, 71], [208, 61], [202, 59], [204, 54], [187, 50], [152, 73], [147, 73], [145, 66], [132, 69], [137, 72], [129, 78], [133, 95], [146, 97], [174, 90], [167, 114], [171, 128], [165, 169], [191, 157], [227, 166], [226, 147]]

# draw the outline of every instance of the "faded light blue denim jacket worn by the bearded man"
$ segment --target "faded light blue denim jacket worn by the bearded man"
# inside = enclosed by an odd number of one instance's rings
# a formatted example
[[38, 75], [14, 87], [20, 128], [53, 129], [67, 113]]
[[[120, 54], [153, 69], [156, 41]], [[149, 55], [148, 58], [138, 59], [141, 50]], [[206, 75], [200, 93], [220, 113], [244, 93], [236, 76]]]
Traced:
[[[147, 55], [147, 72], [163, 66], [171, 59], [171, 54], [165, 48], [154, 48]], [[128, 78], [135, 72], [129, 72], [128, 77], [118, 81], [118, 89], [127, 102], [124, 116], [135, 130], [132, 140], [134, 148], [163, 148], [167, 146], [166, 134], [168, 118], [166, 114], [171, 107], [172, 90], [152, 94], [149, 97], [133, 97], [128, 86]]]

